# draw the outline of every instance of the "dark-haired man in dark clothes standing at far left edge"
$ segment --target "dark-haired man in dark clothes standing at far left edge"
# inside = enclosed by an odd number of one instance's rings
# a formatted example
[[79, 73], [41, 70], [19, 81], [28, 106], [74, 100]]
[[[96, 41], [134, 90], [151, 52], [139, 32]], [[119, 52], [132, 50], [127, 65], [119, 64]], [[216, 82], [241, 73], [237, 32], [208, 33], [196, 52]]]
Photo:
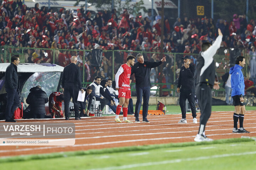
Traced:
[[20, 63], [20, 58], [17, 55], [11, 57], [11, 64], [6, 68], [5, 71], [5, 90], [7, 92], [7, 104], [5, 112], [6, 122], [16, 122], [12, 118], [14, 111], [20, 99], [18, 96], [18, 71], [17, 66]]

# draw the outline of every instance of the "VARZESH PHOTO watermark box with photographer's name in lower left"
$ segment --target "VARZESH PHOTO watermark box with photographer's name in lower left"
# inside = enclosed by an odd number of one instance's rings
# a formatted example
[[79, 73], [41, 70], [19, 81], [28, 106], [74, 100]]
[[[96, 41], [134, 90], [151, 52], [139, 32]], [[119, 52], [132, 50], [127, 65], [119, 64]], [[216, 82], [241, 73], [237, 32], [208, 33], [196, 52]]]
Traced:
[[0, 146], [72, 146], [74, 123], [0, 123]]

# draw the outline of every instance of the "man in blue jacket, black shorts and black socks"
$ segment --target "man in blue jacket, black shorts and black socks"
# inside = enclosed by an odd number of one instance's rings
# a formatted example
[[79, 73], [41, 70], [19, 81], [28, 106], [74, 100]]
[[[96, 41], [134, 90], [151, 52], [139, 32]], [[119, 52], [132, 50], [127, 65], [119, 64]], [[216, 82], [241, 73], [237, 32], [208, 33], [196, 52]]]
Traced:
[[[229, 74], [231, 74], [231, 96], [233, 98], [233, 103], [235, 106], [235, 112], [233, 115], [234, 119], [234, 133], [250, 133], [244, 129], [244, 114], [245, 114], [245, 105], [244, 105], [244, 75], [242, 74], [241, 69], [245, 66], [245, 57], [239, 56], [236, 58], [235, 66], [230, 68]], [[240, 128], [238, 129], [237, 124]]]

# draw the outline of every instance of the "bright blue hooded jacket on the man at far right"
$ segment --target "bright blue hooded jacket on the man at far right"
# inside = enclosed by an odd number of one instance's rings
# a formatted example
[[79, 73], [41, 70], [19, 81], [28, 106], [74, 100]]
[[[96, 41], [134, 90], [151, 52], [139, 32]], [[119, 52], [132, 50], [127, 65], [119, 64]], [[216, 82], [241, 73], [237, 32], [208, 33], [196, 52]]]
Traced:
[[242, 67], [235, 64], [234, 67], [230, 68], [229, 74], [231, 74], [231, 96], [244, 95], [244, 75], [241, 71]]

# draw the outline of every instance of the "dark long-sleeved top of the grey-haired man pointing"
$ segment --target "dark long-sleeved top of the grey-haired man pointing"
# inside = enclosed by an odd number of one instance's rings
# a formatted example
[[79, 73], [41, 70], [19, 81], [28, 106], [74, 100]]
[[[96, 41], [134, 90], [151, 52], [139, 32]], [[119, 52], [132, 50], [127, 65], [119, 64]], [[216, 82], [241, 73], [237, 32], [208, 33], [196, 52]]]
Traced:
[[131, 75], [134, 73], [136, 79], [136, 85], [139, 87], [150, 87], [150, 70], [151, 68], [158, 67], [162, 64], [161, 61], [149, 62], [144, 61], [143, 64], [137, 62], [132, 66]]

